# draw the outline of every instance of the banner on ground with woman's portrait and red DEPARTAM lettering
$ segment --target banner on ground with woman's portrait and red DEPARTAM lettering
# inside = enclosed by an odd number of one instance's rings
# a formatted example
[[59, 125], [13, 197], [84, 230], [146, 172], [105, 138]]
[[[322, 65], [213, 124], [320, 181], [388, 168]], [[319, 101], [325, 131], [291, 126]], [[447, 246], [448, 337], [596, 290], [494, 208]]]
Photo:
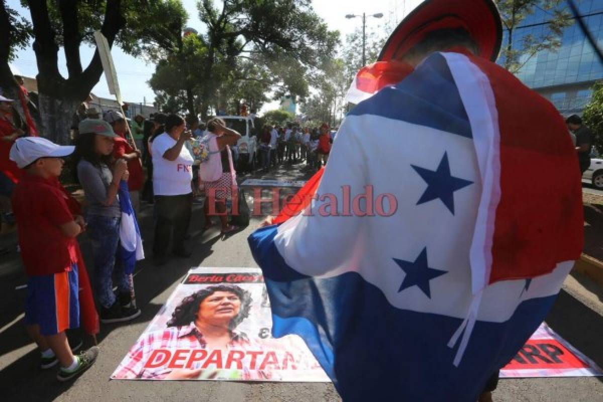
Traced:
[[301, 338], [271, 327], [260, 269], [194, 268], [111, 378], [329, 382]]

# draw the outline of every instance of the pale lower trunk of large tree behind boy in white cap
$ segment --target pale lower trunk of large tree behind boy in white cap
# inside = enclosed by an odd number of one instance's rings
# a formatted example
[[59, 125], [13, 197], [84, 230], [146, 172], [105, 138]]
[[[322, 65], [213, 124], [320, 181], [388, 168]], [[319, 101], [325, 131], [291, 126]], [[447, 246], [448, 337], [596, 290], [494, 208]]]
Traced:
[[45, 137], [60, 145], [71, 144], [71, 119], [81, 103], [81, 99], [69, 98], [68, 96], [55, 98], [42, 92], [40, 92], [39, 98]]

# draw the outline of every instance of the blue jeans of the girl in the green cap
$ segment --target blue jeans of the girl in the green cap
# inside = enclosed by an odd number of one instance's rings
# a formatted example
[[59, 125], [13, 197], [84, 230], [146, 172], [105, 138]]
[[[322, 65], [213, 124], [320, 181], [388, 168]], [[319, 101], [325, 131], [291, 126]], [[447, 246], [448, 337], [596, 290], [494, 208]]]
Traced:
[[92, 242], [94, 257], [94, 289], [101, 306], [109, 308], [115, 303], [113, 294], [113, 275], [119, 293], [130, 293], [130, 281], [125, 274], [124, 265], [116, 258], [119, 246], [119, 221], [121, 218], [90, 215], [88, 217], [88, 236]]

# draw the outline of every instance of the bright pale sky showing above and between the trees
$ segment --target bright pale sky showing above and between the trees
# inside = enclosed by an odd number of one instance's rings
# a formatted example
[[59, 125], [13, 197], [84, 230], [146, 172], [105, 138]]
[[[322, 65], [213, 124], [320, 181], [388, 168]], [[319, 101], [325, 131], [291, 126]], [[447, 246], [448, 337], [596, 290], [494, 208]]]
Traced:
[[[342, 42], [345, 35], [352, 33], [356, 27], [361, 27], [362, 21], [360, 18], [346, 19], [346, 14], [376, 14], [383, 13], [384, 18], [374, 19], [367, 18], [367, 27], [384, 24], [387, 19], [392, 22], [397, 22], [408, 14], [421, 0], [312, 0], [312, 7], [317, 14], [322, 17], [330, 30], [339, 30], [341, 32]], [[29, 10], [21, 7], [20, 0], [8, 0], [8, 7], [17, 10], [21, 16], [31, 20]], [[201, 31], [203, 24], [198, 18], [197, 0], [182, 0], [186, 11], [189, 14], [188, 27], [192, 27]], [[370, 4], [367, 4], [370, 3]], [[84, 68], [94, 54], [94, 48], [82, 46], [81, 60]], [[147, 81], [153, 75], [155, 66], [152, 63], [147, 63], [142, 58], [134, 58], [125, 54], [121, 49], [114, 47], [112, 49], [113, 62], [118, 74], [119, 88], [122, 93], [122, 98], [126, 102], [147, 102], [152, 104], [155, 98], [153, 90], [148, 86]], [[65, 63], [65, 55], [59, 51], [59, 69], [66, 76], [67, 68]], [[22, 49], [17, 52], [17, 57], [11, 63], [13, 74], [21, 74], [25, 77], [36, 77], [36, 55], [30, 48]], [[110, 95], [107, 87], [107, 82], [103, 77], [98, 84], [92, 89], [96, 96], [102, 98], [113, 98]], [[271, 102], [266, 104], [263, 111], [277, 108], [279, 102]]]

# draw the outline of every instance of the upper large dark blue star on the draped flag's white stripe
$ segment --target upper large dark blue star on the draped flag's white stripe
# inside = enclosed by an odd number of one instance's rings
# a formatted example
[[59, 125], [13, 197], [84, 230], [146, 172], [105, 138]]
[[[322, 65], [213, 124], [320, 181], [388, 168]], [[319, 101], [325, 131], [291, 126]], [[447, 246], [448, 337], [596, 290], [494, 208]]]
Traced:
[[440, 198], [444, 205], [454, 215], [454, 193], [457, 190], [473, 184], [473, 181], [464, 180], [462, 178], [453, 177], [450, 174], [450, 164], [448, 163], [448, 154], [444, 152], [444, 157], [440, 161], [438, 169], [430, 171], [429, 169], [420, 168], [419, 166], [411, 165], [418, 175], [427, 183], [427, 189], [418, 200], [417, 205], [428, 203], [434, 199]]

